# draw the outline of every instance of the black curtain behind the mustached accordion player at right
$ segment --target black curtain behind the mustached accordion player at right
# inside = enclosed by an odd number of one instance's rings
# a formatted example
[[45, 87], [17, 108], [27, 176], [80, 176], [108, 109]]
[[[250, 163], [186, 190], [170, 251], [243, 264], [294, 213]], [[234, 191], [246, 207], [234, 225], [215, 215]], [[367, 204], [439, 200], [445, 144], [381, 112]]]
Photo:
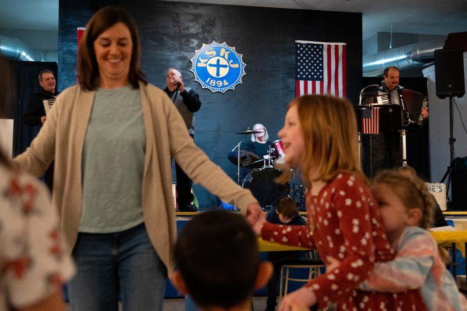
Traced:
[[[363, 86], [371, 84], [381, 85], [382, 77], [363, 77]], [[399, 85], [405, 88], [422, 93], [428, 96], [427, 78], [404, 78], [401, 77]], [[430, 106], [430, 99], [428, 99]], [[430, 108], [428, 108], [430, 112]], [[420, 178], [429, 181], [430, 177], [430, 143], [429, 143], [429, 120], [424, 122], [423, 126], [416, 132], [407, 131], [407, 164], [412, 166]], [[363, 170], [369, 175], [369, 138], [368, 135], [363, 136]], [[402, 149], [401, 149], [402, 152]]]

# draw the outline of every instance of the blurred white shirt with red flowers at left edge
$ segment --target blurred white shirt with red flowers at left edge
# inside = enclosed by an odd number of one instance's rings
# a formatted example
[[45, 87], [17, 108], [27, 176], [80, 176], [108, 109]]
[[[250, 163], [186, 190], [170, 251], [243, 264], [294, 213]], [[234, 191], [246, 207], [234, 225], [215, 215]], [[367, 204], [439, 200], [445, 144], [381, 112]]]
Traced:
[[0, 165], [0, 311], [36, 304], [71, 278], [57, 226], [46, 187]]

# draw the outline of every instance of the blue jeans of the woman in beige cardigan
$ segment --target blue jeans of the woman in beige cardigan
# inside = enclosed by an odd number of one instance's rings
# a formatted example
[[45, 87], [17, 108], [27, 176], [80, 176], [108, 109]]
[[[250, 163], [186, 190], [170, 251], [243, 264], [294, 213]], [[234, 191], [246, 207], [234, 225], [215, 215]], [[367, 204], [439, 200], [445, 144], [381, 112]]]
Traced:
[[144, 224], [106, 234], [79, 233], [76, 276], [68, 283], [72, 311], [162, 310], [167, 269]]

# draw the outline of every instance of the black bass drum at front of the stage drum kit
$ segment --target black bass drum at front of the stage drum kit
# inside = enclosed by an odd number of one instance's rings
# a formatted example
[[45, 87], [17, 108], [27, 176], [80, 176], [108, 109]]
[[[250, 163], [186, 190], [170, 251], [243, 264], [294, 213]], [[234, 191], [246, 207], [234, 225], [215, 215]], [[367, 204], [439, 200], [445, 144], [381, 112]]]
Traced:
[[261, 207], [276, 207], [287, 196], [290, 188], [288, 183], [280, 185], [274, 182], [281, 174], [282, 171], [271, 167], [256, 169], [245, 176], [242, 187], [250, 189]]

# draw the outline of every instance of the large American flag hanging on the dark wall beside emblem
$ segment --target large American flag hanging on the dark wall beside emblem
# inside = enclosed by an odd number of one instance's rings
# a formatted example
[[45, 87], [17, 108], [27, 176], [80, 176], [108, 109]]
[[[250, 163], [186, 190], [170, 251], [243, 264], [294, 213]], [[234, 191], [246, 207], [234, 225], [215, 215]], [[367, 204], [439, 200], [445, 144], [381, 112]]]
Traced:
[[346, 44], [295, 40], [295, 95], [346, 96]]

